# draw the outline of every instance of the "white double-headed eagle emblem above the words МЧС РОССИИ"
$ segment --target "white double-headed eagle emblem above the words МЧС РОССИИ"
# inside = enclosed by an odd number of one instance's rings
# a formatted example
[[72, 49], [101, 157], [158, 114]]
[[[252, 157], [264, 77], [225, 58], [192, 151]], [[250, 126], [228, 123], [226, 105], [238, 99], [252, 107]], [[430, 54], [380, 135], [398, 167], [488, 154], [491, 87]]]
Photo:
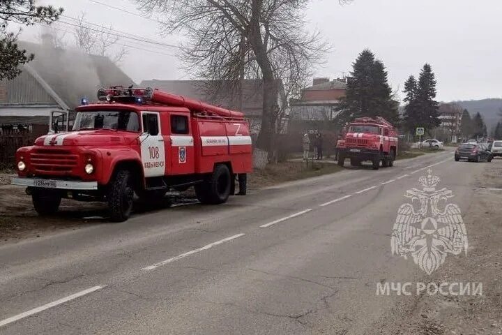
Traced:
[[393, 255], [405, 259], [411, 256], [420, 269], [432, 274], [448, 253], [459, 255], [464, 251], [467, 255], [467, 234], [459, 207], [448, 203], [452, 191], [436, 191], [440, 179], [430, 169], [418, 181], [423, 189], [406, 191], [404, 196], [411, 203], [397, 211], [390, 245]]

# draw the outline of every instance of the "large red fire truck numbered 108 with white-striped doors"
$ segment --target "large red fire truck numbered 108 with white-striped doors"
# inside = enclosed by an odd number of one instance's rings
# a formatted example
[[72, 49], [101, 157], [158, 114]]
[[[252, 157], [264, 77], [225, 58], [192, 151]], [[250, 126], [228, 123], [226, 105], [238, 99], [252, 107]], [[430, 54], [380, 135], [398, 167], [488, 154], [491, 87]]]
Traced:
[[136, 193], [146, 202], [195, 186], [204, 204], [246, 192], [252, 171], [243, 113], [157, 89], [112, 87], [96, 104], [77, 107], [73, 131], [38, 137], [17, 150], [18, 177], [38, 214], [54, 214], [61, 198], [105, 201], [125, 221]]

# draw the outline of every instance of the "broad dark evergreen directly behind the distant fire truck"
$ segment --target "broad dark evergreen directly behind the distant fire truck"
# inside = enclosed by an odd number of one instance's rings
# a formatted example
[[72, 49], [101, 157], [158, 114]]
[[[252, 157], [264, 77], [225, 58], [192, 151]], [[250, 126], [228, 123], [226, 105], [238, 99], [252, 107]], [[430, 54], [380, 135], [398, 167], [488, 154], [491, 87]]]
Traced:
[[383, 63], [366, 49], [352, 66], [346, 96], [337, 108], [336, 121], [345, 124], [356, 117], [383, 117], [393, 123], [399, 121], [397, 104], [392, 99]]

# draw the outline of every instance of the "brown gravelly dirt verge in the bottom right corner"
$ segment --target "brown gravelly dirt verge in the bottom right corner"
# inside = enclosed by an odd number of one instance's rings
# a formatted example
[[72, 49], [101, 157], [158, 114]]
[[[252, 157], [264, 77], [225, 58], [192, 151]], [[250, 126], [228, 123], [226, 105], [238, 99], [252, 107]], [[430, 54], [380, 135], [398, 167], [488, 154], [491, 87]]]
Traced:
[[[482, 295], [421, 295], [388, 311], [374, 334], [502, 334], [502, 162], [487, 164], [464, 214], [468, 257], [448, 258], [427, 281], [482, 283]], [[494, 188], [500, 188], [496, 191]], [[398, 299], [405, 301], [405, 299]]]

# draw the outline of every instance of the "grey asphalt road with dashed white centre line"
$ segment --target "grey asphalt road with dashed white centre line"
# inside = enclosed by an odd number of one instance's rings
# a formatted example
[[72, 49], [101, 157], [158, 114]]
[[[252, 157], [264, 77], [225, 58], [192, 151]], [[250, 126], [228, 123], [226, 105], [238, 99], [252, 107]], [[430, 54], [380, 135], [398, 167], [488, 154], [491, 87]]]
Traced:
[[1, 246], [0, 334], [373, 334], [404, 299], [376, 283], [424, 277], [390, 253], [405, 191], [431, 168], [467, 210], [485, 164], [450, 150]]

